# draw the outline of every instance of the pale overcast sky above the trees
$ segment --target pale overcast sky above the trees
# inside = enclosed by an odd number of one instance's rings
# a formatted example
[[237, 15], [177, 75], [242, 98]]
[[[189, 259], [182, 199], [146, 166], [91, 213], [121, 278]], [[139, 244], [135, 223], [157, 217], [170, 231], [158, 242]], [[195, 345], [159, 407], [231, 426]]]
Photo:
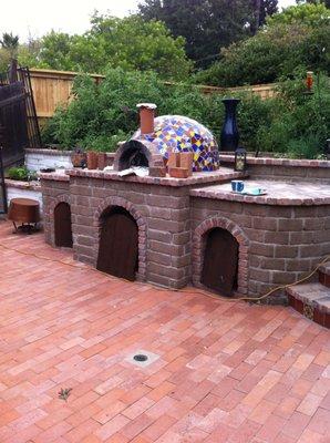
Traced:
[[[2, 32], [41, 37], [54, 29], [69, 33], [82, 33], [89, 28], [89, 19], [96, 9], [124, 17], [136, 9], [138, 0], [17, 0], [2, 1], [0, 35]], [[279, 0], [280, 7], [295, 4], [295, 0]]]

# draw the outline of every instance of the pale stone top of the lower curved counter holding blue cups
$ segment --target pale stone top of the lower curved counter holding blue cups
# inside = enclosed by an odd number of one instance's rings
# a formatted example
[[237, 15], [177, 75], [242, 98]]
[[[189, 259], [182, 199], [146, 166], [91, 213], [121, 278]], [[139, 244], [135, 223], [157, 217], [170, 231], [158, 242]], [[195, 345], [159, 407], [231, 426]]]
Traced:
[[329, 185], [313, 183], [281, 183], [271, 181], [246, 181], [246, 187], [267, 189], [266, 195], [249, 196], [234, 194], [230, 184], [212, 185], [202, 189], [192, 189], [193, 197], [205, 197], [219, 200], [252, 203], [277, 206], [313, 206], [330, 205]]

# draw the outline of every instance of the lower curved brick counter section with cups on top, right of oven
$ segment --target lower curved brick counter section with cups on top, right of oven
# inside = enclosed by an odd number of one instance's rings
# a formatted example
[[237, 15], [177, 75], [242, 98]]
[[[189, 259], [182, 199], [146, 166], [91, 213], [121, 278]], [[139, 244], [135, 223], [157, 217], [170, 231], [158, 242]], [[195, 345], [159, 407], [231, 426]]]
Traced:
[[327, 186], [258, 184], [269, 195], [236, 195], [229, 185], [192, 189], [195, 285], [200, 286], [203, 235], [213, 227], [228, 229], [238, 240], [238, 291], [249, 296], [297, 281], [330, 255]]

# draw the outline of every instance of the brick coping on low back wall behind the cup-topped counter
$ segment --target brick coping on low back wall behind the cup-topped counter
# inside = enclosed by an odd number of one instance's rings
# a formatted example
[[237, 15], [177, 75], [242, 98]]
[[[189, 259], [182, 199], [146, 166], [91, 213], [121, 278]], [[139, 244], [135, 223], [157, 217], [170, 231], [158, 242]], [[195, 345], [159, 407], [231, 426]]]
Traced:
[[[235, 155], [220, 154], [220, 161], [225, 163], [234, 163]], [[269, 157], [249, 157], [248, 165], [267, 165], [267, 166], [292, 166], [292, 167], [329, 167], [330, 161], [327, 159], [296, 159], [296, 158], [269, 158]]]

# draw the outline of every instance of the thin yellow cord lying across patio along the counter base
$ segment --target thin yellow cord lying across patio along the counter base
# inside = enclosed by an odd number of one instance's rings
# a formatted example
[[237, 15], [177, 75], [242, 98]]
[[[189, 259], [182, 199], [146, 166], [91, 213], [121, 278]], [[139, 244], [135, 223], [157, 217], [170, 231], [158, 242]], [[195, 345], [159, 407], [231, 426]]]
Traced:
[[[37, 254], [33, 254], [33, 253], [24, 253], [24, 251], [22, 251], [22, 250], [19, 250], [19, 249], [16, 249], [16, 248], [11, 248], [11, 247], [9, 247], [9, 246], [6, 246], [6, 245], [3, 245], [3, 244], [1, 244], [1, 243], [0, 243], [0, 247], [3, 248], [3, 249], [7, 249], [7, 250], [11, 250], [11, 251], [14, 251], [14, 253], [18, 253], [18, 254], [25, 255], [25, 256], [35, 257], [35, 258], [41, 259], [41, 260], [47, 260], [47, 261], [51, 261], [51, 262], [58, 262], [58, 264], [61, 264], [61, 265], [69, 266], [69, 267], [71, 267], [71, 268], [75, 268], [75, 269], [82, 269], [81, 266], [79, 266], [79, 265], [74, 265], [74, 264], [70, 264], [70, 262], [63, 261], [63, 260], [58, 260], [58, 259], [53, 259], [53, 258], [48, 258], [48, 257], [39, 256], [39, 255], [37, 255]], [[299, 285], [299, 284], [301, 284], [301, 282], [308, 280], [308, 279], [311, 278], [311, 277], [318, 271], [318, 269], [319, 269], [323, 264], [326, 264], [327, 261], [330, 261], [330, 256], [327, 256], [321, 262], [319, 262], [319, 264], [314, 267], [314, 269], [313, 269], [312, 271], [310, 271], [306, 277], [302, 277], [301, 279], [299, 279], [299, 280], [297, 280], [297, 281], [295, 281], [295, 282], [292, 282], [292, 284], [289, 284], [289, 285], [277, 286], [276, 288], [270, 289], [268, 292], [264, 293], [264, 296], [260, 296], [260, 297], [227, 298], [227, 297], [223, 297], [223, 296], [220, 296], [220, 295], [219, 295], [219, 296], [218, 296], [218, 295], [216, 296], [216, 295], [213, 295], [213, 293], [210, 293], [210, 292], [207, 292], [207, 291], [204, 291], [204, 290], [200, 290], [200, 289], [196, 289], [196, 290], [194, 289], [194, 291], [192, 291], [192, 290], [189, 290], [189, 289], [165, 289], [165, 288], [158, 288], [158, 287], [157, 287], [157, 289], [163, 290], [163, 291], [174, 291], [174, 292], [193, 293], [193, 295], [202, 293], [203, 296], [207, 296], [207, 297], [210, 297], [210, 298], [216, 299], [216, 300], [221, 299], [221, 300], [226, 300], [226, 301], [230, 301], [230, 302], [236, 302], [236, 301], [258, 301], [258, 300], [262, 300], [262, 299], [269, 297], [271, 293], [274, 293], [274, 292], [276, 292], [276, 291], [278, 291], [278, 290], [287, 289], [287, 288], [290, 288], [290, 287], [292, 287], [292, 286]], [[106, 276], [106, 277], [109, 277], [109, 278], [116, 278], [116, 277], [114, 277], [114, 276], [110, 276], [109, 274], [103, 272], [102, 270], [99, 270], [99, 269], [95, 269], [95, 268], [90, 268], [89, 270], [92, 270], [93, 272], [102, 274], [102, 275], [104, 275], [104, 276]], [[126, 280], [125, 278], [121, 278], [121, 280], [124, 280], [124, 281], [127, 281], [127, 282], [132, 282], [132, 281], [130, 281], [130, 280]], [[135, 282], [135, 284], [136, 284], [136, 282]], [[138, 281], [137, 281], [137, 284], [145, 285], [145, 284], [138, 282]]]

